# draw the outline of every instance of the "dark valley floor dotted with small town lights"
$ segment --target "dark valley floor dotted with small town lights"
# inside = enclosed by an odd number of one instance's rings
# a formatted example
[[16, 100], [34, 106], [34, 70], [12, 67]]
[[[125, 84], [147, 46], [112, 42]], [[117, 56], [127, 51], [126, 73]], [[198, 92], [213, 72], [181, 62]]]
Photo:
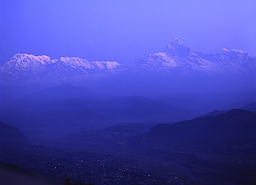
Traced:
[[57, 184], [66, 178], [84, 184], [111, 185], [256, 182], [254, 154], [136, 144], [134, 141], [139, 141], [143, 134], [102, 134], [82, 134], [84, 139], [81, 135], [71, 135], [56, 143], [59, 147], [2, 146], [0, 160], [29, 169]]

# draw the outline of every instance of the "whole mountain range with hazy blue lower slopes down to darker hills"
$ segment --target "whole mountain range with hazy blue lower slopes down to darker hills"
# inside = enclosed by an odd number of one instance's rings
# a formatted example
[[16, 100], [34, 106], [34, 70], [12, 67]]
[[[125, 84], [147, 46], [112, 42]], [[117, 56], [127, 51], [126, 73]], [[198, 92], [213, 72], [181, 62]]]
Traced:
[[65, 83], [102, 94], [157, 98], [205, 114], [256, 100], [256, 58], [236, 49], [221, 49], [216, 55], [194, 52], [178, 38], [163, 52], [126, 64], [17, 54], [0, 66], [0, 106]]

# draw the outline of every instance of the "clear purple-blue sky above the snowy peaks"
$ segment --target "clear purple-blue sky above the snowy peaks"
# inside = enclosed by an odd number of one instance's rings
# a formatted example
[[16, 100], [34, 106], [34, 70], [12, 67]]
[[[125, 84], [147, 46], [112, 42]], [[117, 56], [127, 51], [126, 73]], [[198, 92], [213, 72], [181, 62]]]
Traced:
[[17, 52], [133, 61], [160, 52], [173, 37], [215, 54], [256, 56], [256, 1], [0, 1], [0, 64]]

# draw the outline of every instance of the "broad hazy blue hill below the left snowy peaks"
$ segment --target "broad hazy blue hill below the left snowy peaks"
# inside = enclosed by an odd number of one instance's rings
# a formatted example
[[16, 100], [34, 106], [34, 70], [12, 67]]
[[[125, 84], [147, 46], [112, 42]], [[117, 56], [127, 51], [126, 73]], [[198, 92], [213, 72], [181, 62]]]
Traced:
[[[15, 115], [15, 116], [13, 116]], [[144, 97], [97, 94], [74, 85], [47, 88], [2, 109], [0, 117], [20, 127], [99, 128], [120, 122], [180, 121], [194, 114]]]

